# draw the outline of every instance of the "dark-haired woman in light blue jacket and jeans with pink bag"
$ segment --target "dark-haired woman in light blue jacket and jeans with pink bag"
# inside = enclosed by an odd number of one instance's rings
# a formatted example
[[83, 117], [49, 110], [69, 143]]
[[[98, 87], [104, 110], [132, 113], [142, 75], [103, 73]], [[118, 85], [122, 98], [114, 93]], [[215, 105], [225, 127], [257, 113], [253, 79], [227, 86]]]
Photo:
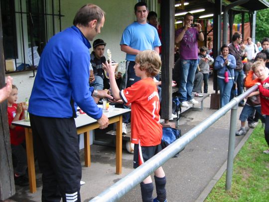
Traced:
[[220, 89], [220, 105], [223, 107], [230, 101], [231, 90], [234, 81], [234, 68], [236, 68], [236, 59], [229, 54], [228, 45], [221, 47], [221, 55], [217, 56], [214, 69], [218, 71], [217, 81]]

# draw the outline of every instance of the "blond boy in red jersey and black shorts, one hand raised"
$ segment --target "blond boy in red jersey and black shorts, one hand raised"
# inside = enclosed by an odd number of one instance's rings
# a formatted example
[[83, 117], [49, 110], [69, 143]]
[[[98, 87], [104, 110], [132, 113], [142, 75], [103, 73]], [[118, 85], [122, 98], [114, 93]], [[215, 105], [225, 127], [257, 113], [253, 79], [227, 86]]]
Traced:
[[[113, 75], [115, 67], [106, 62], [103, 67]], [[159, 123], [159, 96], [152, 77], [159, 73], [161, 59], [154, 50], [144, 50], [135, 57], [134, 72], [141, 80], [131, 87], [119, 90], [115, 77], [110, 77], [113, 97], [132, 104], [131, 142], [134, 143], [134, 168], [161, 151], [162, 126]], [[157, 198], [154, 202], [166, 202], [166, 178], [162, 167], [154, 172]], [[152, 202], [153, 183], [148, 176], [140, 183], [142, 201]]]

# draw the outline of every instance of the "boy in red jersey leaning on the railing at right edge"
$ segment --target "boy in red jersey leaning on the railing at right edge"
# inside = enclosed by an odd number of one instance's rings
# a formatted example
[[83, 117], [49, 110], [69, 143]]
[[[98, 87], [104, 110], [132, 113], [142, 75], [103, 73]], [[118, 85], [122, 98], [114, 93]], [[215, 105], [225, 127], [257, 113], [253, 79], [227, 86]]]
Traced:
[[[259, 86], [260, 98], [261, 98], [261, 106], [262, 106], [262, 114], [266, 115], [265, 118], [265, 139], [269, 146], [269, 76], [268, 72], [265, 69], [264, 62], [255, 62], [252, 66], [252, 70], [248, 74], [249, 77], [253, 75], [253, 72], [258, 77], [257, 79], [252, 80], [252, 83], [256, 82]], [[269, 154], [269, 150], [264, 151], [265, 154]]]

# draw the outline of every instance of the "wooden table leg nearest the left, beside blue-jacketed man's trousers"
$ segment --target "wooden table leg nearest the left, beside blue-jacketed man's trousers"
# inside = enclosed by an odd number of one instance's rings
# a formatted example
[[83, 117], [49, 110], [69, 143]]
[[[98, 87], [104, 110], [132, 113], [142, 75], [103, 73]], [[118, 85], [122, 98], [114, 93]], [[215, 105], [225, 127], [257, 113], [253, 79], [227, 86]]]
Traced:
[[34, 155], [33, 155], [33, 135], [30, 128], [25, 128], [25, 142], [26, 142], [30, 192], [35, 193], [36, 180], [35, 180]]

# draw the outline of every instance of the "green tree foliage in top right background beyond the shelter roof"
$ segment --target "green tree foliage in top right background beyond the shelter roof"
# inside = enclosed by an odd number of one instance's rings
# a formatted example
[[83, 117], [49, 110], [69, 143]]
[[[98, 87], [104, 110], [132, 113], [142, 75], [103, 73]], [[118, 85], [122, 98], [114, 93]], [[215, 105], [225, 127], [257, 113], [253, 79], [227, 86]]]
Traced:
[[[236, 14], [234, 23], [241, 23], [242, 15]], [[245, 13], [245, 22], [249, 22], [249, 14]], [[269, 37], [269, 8], [257, 10], [255, 41], [261, 41], [264, 37]]]

